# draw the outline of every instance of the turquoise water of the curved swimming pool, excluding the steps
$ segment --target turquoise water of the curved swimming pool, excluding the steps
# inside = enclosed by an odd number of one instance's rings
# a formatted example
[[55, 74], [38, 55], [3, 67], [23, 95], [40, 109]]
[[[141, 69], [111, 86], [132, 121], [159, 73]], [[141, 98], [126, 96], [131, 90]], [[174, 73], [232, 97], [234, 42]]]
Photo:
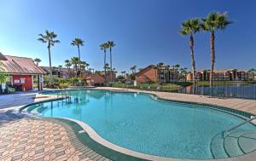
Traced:
[[[146, 94], [69, 93], [72, 103], [45, 102], [32, 106], [32, 112], [80, 120], [120, 147], [161, 157], [212, 158], [212, 137], [244, 121], [205, 106], [156, 101]], [[241, 128], [255, 130], [253, 124]]]

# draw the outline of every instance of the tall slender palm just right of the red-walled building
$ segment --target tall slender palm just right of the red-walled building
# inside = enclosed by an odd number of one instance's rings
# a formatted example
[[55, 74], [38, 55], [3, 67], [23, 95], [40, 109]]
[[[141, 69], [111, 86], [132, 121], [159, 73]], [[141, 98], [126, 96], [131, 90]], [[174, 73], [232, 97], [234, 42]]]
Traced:
[[50, 58], [50, 47], [53, 47], [55, 43], [61, 43], [59, 40], [55, 40], [57, 35], [55, 32], [49, 32], [48, 30], [45, 31], [45, 34], [39, 34], [38, 41], [42, 43], [47, 43], [48, 54], [49, 54], [49, 83], [52, 83], [52, 70], [51, 70], [51, 58]]

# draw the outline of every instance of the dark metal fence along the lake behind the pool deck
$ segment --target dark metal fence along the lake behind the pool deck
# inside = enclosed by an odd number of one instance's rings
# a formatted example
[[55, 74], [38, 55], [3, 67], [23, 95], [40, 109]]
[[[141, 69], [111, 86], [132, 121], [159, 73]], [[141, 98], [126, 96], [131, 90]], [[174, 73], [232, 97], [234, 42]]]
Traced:
[[256, 100], [256, 82], [248, 81], [214, 81], [212, 87], [209, 82], [175, 82], [175, 83], [141, 83], [135, 87], [133, 83], [118, 83], [112, 87], [127, 89], [143, 89], [183, 93], [192, 95], [209, 95], [212, 97], [242, 98]]

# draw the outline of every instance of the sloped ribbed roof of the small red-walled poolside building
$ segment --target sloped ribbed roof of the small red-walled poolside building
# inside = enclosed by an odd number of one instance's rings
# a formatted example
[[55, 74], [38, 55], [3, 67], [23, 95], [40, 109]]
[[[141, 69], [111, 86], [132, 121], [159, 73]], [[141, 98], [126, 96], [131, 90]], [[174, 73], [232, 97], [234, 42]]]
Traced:
[[0, 60], [3, 72], [9, 74], [46, 74], [31, 58], [18, 56], [4, 56], [7, 60]]

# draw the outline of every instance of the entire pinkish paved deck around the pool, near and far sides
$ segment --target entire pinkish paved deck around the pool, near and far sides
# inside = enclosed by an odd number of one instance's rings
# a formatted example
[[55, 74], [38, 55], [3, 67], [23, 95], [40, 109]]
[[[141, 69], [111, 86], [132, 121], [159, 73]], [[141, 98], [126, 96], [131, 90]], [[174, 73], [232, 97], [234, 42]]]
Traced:
[[[185, 95], [138, 89], [98, 87], [113, 91], [145, 92], [167, 100], [208, 103], [256, 114], [256, 101], [243, 99], [218, 99], [202, 95]], [[39, 95], [37, 91], [0, 95], [0, 160], [82, 160], [108, 161], [79, 141], [67, 124], [51, 119], [16, 117], [9, 113], [14, 106], [55, 99], [56, 96]], [[181, 160], [181, 159], [172, 159]], [[212, 159], [209, 159], [210, 161]], [[255, 161], [256, 152], [225, 161]]]

